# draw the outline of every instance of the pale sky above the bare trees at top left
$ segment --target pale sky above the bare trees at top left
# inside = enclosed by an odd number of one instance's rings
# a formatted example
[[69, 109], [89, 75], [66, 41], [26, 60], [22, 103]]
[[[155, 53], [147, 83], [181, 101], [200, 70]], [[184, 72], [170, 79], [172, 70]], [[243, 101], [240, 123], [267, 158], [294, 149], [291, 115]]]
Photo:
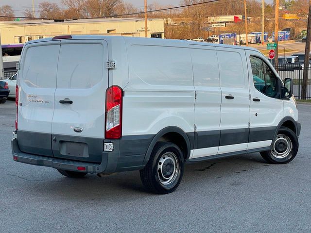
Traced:
[[[38, 8], [38, 4], [42, 1], [46, 0], [34, 0], [35, 2], [35, 10]], [[48, 0], [51, 3], [58, 3], [60, 8], [63, 6], [61, 5], [61, 0]], [[144, 0], [125, 0], [127, 2], [131, 2], [136, 7], [142, 7], [144, 5]], [[147, 0], [148, 4], [157, 2], [163, 5], [180, 5], [180, 0]], [[13, 10], [15, 11], [15, 15], [23, 16], [23, 10], [26, 8], [32, 8], [32, 0], [0, 0], [0, 5], [10, 5]]]

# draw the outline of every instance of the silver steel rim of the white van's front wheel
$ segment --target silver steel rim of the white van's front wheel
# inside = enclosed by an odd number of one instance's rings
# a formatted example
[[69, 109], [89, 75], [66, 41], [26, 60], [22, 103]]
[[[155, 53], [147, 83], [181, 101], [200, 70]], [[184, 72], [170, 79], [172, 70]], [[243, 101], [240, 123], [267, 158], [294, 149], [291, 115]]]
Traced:
[[277, 134], [271, 153], [274, 157], [283, 159], [289, 155], [292, 149], [293, 143], [291, 139], [285, 134]]

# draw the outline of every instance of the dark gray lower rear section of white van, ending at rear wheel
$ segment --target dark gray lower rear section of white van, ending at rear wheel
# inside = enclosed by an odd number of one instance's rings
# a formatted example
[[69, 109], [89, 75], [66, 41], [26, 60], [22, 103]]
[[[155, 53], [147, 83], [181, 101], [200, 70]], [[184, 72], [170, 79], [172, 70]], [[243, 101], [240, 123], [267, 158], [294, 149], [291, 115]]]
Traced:
[[[76, 171], [77, 166], [83, 165], [90, 173], [139, 170], [153, 137], [104, 140], [18, 131], [17, 139], [12, 140], [12, 153], [17, 162], [58, 169]], [[104, 142], [112, 142], [114, 150], [104, 151]]]

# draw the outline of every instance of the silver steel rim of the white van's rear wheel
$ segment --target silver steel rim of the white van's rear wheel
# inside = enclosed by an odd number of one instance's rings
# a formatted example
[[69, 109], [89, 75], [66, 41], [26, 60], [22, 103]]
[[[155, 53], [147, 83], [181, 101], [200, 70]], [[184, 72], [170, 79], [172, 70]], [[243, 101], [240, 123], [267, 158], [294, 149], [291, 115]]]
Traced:
[[157, 164], [157, 176], [163, 185], [173, 183], [179, 172], [177, 156], [173, 152], [163, 154]]

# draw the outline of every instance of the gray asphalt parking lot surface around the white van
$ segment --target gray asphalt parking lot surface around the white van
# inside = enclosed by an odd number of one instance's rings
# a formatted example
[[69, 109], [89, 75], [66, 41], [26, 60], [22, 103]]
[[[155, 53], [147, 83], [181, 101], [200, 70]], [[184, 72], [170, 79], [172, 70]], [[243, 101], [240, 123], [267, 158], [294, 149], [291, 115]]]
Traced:
[[15, 102], [0, 104], [0, 232], [311, 232], [311, 105], [298, 105], [296, 158], [259, 153], [186, 165], [179, 188], [146, 192], [139, 172], [69, 179], [14, 162]]

